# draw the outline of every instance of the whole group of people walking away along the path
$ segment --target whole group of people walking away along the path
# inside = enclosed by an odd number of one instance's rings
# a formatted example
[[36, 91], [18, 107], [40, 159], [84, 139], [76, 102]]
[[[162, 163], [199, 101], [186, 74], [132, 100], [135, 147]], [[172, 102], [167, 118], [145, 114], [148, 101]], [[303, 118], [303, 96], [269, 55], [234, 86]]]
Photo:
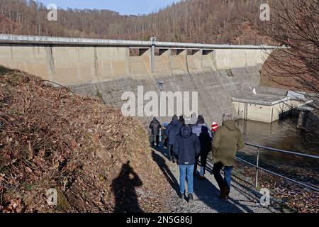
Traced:
[[[194, 200], [194, 177], [196, 177], [199, 159], [201, 170], [199, 179], [205, 179], [208, 154], [213, 152], [213, 175], [220, 188], [220, 199], [228, 199], [230, 194], [231, 173], [237, 150], [244, 148], [242, 133], [233, 121], [232, 114], [223, 115], [223, 124], [213, 122], [211, 128], [202, 115], [192, 115], [186, 124], [183, 116], [173, 116], [171, 123], [161, 123], [154, 118], [150, 123], [152, 146], [159, 147], [159, 132], [168, 150], [169, 160], [179, 165], [179, 198], [185, 199], [185, 181], [187, 179], [187, 199]], [[220, 174], [223, 170], [224, 177]]]

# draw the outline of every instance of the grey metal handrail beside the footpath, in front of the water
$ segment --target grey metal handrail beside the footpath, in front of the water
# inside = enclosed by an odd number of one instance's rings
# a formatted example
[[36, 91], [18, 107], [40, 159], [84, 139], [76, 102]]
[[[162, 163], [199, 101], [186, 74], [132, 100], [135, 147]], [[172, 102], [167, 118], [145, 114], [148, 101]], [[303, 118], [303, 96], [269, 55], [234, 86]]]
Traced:
[[253, 147], [253, 148], [257, 148], [257, 161], [256, 161], [256, 165], [252, 164], [251, 162], [247, 162], [246, 160], [243, 160], [242, 158], [240, 157], [236, 157], [237, 160], [240, 160], [241, 162], [245, 162], [247, 165], [250, 165], [252, 167], [255, 167], [256, 168], [256, 175], [255, 175], [255, 179], [256, 179], [256, 182], [255, 182], [255, 187], [258, 187], [258, 173], [259, 173], [259, 170], [262, 170], [264, 172], [268, 172], [269, 174], [271, 175], [275, 175], [276, 177], [281, 177], [283, 179], [286, 179], [287, 181], [289, 182], [293, 182], [295, 184], [299, 184], [303, 187], [306, 187], [308, 189], [313, 189], [315, 190], [316, 192], [319, 192], [319, 189], [317, 187], [313, 187], [313, 186], [310, 186], [308, 184], [304, 184], [303, 182], [298, 182], [296, 181], [295, 179], [291, 179], [289, 177], [285, 177], [283, 175], [280, 175], [276, 172], [272, 172], [271, 170], [266, 170], [262, 167], [259, 167], [259, 153], [260, 153], [260, 149], [263, 149], [263, 150], [269, 150], [271, 152], [274, 152], [274, 153], [283, 153], [283, 154], [289, 154], [289, 155], [297, 155], [297, 156], [300, 156], [300, 157], [308, 157], [308, 158], [314, 158], [314, 159], [319, 159], [319, 156], [316, 156], [316, 155], [306, 155], [306, 154], [302, 154], [302, 153], [296, 153], [296, 152], [292, 152], [292, 151], [288, 151], [288, 150], [279, 150], [279, 149], [274, 149], [274, 148], [267, 148], [267, 147], [264, 147], [264, 146], [260, 146], [260, 145], [254, 145], [254, 144], [251, 144], [251, 143], [245, 143], [246, 145], [250, 146], [250, 147]]

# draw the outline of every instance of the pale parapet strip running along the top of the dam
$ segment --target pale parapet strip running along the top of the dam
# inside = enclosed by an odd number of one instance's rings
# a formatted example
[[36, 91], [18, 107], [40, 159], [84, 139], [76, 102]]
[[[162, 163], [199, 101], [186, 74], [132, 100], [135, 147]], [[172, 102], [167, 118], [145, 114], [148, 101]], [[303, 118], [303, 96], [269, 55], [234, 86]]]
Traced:
[[254, 50], [274, 50], [285, 48], [270, 45], [216, 45], [201, 43], [174, 43], [142, 40], [106, 40], [92, 38], [65, 38], [33, 35], [7, 35], [0, 34], [0, 43], [5, 44], [43, 44], [43, 45], [101, 45], [101, 46], [124, 46], [124, 47], [147, 47], [157, 46], [157, 48], [199, 48], [199, 49], [254, 49]]

